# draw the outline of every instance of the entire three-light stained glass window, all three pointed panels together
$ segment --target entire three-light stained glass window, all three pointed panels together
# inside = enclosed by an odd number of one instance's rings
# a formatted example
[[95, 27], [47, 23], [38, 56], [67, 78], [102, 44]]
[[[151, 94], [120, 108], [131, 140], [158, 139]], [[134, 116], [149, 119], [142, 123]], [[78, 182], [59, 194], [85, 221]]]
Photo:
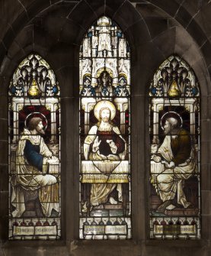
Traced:
[[[79, 238], [129, 239], [129, 44], [104, 16], [88, 29], [79, 54]], [[14, 71], [9, 239], [61, 237], [59, 96], [55, 73], [36, 53]], [[149, 124], [150, 238], [200, 238], [200, 87], [177, 55], [152, 79]]]

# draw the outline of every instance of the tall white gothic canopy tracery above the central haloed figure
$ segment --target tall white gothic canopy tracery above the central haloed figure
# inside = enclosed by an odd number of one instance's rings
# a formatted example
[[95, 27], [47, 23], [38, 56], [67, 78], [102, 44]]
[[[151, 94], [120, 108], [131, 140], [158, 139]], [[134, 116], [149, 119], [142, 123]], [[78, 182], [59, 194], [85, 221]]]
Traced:
[[99, 18], [85, 34], [80, 50], [81, 96], [129, 96], [129, 57], [128, 43], [117, 24]]

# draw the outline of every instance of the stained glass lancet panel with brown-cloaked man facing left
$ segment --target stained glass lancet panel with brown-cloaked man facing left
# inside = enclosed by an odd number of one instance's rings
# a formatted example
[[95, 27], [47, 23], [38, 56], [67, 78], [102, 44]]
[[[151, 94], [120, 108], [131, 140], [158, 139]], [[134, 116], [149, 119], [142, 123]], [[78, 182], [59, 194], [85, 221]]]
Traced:
[[200, 238], [200, 89], [181, 57], [158, 68], [149, 102], [150, 237]]

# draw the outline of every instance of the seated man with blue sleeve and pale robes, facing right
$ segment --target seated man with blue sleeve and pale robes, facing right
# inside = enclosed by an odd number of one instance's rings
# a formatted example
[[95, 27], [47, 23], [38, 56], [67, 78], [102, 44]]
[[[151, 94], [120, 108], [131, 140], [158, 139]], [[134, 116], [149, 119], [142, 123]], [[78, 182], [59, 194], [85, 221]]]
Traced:
[[24, 129], [16, 151], [15, 174], [11, 177], [11, 204], [13, 217], [21, 217], [25, 211], [24, 197], [38, 190], [43, 215], [59, 214], [59, 182], [48, 174], [49, 164], [59, 160], [47, 147], [40, 134], [44, 134], [41, 118], [31, 118], [29, 128]]

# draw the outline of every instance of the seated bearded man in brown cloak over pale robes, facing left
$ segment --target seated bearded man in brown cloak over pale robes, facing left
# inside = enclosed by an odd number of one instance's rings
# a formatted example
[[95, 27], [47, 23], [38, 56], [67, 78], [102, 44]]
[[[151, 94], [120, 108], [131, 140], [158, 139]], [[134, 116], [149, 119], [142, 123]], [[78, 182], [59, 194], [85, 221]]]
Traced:
[[152, 160], [158, 165], [158, 174], [152, 174], [152, 184], [162, 200], [157, 212], [174, 209], [173, 199], [184, 208], [190, 206], [184, 195], [184, 180], [197, 171], [196, 157], [191, 147], [190, 134], [181, 128], [176, 118], [167, 118], [164, 125], [165, 139]]

